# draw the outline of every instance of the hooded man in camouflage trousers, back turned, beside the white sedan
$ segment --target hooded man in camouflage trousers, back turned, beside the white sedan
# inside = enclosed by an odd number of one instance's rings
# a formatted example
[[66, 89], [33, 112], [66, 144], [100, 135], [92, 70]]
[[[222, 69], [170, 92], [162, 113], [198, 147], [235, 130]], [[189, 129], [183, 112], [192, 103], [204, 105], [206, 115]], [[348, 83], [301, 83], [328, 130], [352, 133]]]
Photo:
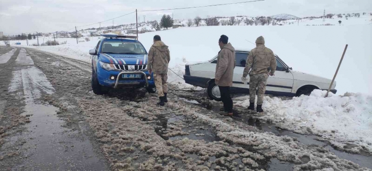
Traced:
[[[271, 70], [268, 72], [268, 68]], [[249, 72], [249, 70], [251, 70]], [[254, 101], [257, 95], [257, 112], [263, 112], [263, 95], [266, 91], [268, 75], [273, 76], [276, 70], [276, 59], [274, 53], [265, 47], [265, 40], [262, 36], [256, 40], [256, 48], [249, 52], [247, 63], [243, 71], [242, 81], [247, 81], [249, 74], [249, 110], [254, 110]]]

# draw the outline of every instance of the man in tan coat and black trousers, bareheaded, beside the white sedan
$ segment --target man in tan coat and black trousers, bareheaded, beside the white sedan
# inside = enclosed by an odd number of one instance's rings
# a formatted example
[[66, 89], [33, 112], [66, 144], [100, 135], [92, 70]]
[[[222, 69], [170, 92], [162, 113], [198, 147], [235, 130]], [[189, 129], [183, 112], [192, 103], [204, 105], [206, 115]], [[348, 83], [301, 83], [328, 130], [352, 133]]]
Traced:
[[232, 79], [235, 68], [235, 49], [227, 43], [229, 38], [222, 35], [218, 40], [218, 45], [221, 50], [218, 52], [215, 83], [218, 85], [221, 93], [221, 100], [224, 103], [224, 111], [220, 112], [222, 115], [233, 115], [233, 101], [230, 97], [230, 86], [232, 86]]

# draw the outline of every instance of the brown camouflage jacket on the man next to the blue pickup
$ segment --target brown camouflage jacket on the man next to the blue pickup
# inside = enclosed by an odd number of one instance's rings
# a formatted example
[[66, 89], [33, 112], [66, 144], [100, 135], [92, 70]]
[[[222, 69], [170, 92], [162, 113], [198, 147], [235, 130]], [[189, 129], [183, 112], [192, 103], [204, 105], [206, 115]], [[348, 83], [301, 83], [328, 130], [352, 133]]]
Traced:
[[166, 74], [168, 72], [168, 64], [170, 54], [168, 46], [161, 41], [156, 41], [148, 52], [147, 69], [152, 70], [156, 74]]

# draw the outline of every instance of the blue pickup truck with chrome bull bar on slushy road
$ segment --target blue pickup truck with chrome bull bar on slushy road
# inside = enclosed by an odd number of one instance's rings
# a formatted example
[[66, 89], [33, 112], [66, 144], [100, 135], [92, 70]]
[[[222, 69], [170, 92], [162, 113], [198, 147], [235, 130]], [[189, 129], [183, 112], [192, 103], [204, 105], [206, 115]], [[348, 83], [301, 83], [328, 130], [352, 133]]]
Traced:
[[93, 92], [102, 95], [110, 89], [146, 88], [155, 93], [153, 76], [147, 71], [147, 51], [137, 37], [102, 36], [96, 48], [89, 50]]

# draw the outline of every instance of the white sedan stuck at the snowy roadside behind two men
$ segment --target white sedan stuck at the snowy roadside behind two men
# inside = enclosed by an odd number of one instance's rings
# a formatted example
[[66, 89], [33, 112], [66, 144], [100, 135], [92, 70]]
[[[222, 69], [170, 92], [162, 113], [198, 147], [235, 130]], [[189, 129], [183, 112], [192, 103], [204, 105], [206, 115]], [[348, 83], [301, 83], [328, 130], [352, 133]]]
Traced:
[[[236, 50], [235, 60], [236, 67], [234, 69], [232, 91], [249, 93], [249, 85], [245, 85], [241, 81], [243, 70], [249, 54], [249, 50]], [[275, 76], [270, 76], [267, 80], [265, 94], [275, 96], [300, 96], [310, 95], [314, 89], [327, 90], [331, 84], [330, 79], [302, 73], [292, 70], [278, 56], [276, 56], [276, 71]], [[217, 56], [208, 62], [197, 63], [185, 66], [185, 75], [183, 78], [186, 83], [207, 88], [208, 95], [211, 99], [220, 101], [221, 95], [218, 86], [215, 84], [215, 70], [217, 64]], [[249, 84], [249, 76], [247, 76]], [[333, 83], [331, 92], [336, 93], [336, 82]]]

